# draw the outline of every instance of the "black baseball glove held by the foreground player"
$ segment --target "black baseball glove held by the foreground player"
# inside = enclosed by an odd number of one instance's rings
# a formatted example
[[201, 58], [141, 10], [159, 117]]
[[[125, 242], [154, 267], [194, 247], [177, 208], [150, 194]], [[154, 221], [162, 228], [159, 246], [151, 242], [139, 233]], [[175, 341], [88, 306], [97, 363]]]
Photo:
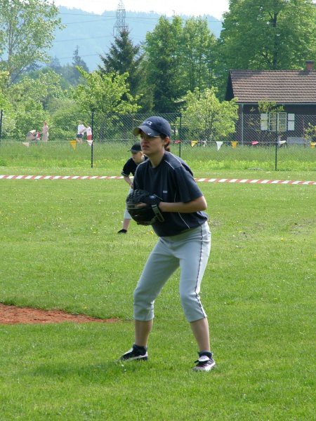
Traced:
[[[136, 189], [126, 197], [126, 209], [138, 225], [152, 225], [155, 222], [164, 222], [158, 207], [161, 201], [156, 194]], [[146, 206], [138, 208], [139, 203], [145, 203]]]

